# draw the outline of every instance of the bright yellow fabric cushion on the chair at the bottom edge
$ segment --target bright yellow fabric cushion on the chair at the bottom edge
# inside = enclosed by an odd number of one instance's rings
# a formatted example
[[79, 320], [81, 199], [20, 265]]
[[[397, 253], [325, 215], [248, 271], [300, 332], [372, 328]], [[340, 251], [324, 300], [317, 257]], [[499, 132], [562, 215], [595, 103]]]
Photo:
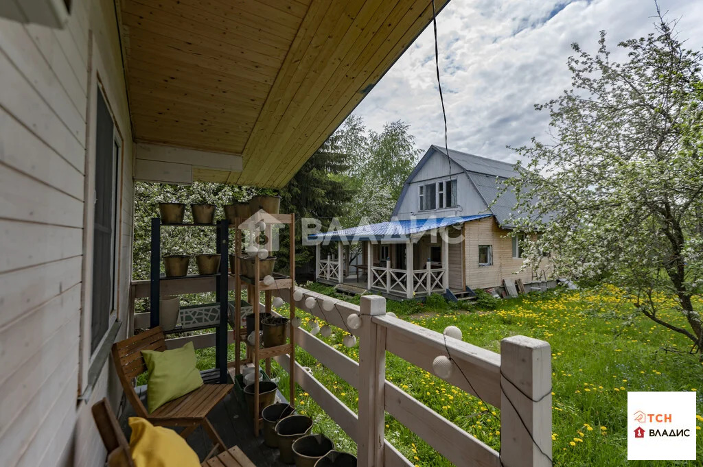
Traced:
[[129, 438], [135, 467], [200, 467], [198, 454], [174, 430], [129, 417]]

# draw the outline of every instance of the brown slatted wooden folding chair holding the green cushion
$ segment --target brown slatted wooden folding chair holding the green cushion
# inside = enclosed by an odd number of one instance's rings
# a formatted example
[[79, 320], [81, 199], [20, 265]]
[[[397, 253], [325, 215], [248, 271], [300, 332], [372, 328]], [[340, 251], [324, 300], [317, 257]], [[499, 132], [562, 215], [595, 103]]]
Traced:
[[[134, 408], [137, 416], [147, 419], [155, 426], [183, 426], [183, 438], [202, 426], [205, 433], [214, 442], [214, 448], [208, 454], [227, 447], [217, 434], [217, 431], [207, 420], [207, 414], [217, 405], [234, 387], [232, 384], [204, 384], [200, 388], [163, 404], [153, 413], [149, 413], [132, 386], [132, 380], [146, 371], [146, 363], [141, 355], [142, 350], [166, 350], [166, 341], [161, 327], [149, 329], [146, 332], [112, 344], [112, 360], [115, 362], [117, 376], [120, 378], [122, 388], [127, 400]], [[217, 464], [216, 464], [217, 465]]]

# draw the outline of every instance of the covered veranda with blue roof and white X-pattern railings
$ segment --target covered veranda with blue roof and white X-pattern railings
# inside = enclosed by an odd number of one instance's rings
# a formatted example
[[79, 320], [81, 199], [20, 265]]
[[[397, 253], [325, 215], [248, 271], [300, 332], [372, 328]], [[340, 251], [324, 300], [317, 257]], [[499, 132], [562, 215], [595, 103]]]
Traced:
[[393, 220], [311, 234], [315, 279], [397, 298], [444, 294], [451, 275], [462, 274], [461, 261], [449, 261], [451, 245], [463, 244], [462, 225], [488, 216]]

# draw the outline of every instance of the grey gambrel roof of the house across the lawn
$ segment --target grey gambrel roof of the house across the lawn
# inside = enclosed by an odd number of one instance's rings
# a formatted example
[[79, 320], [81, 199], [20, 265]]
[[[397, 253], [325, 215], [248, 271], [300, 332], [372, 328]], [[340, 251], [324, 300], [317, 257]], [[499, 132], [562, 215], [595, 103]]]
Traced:
[[449, 159], [464, 170], [469, 182], [482, 197], [486, 205], [485, 212], [496, 216], [498, 225], [503, 228], [514, 227], [514, 225], [509, 222], [512, 208], [517, 204], [517, 198], [512, 188], [508, 188], [490, 209], [488, 209], [488, 206], [491, 202], [494, 202], [494, 199], [498, 197], [501, 190], [505, 187], [505, 180], [518, 175], [517, 171], [515, 171], [515, 166], [510, 162], [496, 161], [487, 157], [469, 154], [468, 152], [456, 150], [449, 150], [448, 152], [446, 148], [437, 145], [430, 145], [430, 148], [425, 152], [422, 159], [420, 159], [418, 165], [415, 166], [415, 169], [413, 169], [410, 176], [408, 176], [408, 180], [406, 180], [403, 185], [403, 191], [396, 203], [392, 216], [397, 216], [401, 202], [407, 194], [408, 188], [410, 188], [411, 180], [415, 178], [420, 169], [422, 169], [427, 161], [437, 152], [444, 154], [445, 157], [449, 154]]

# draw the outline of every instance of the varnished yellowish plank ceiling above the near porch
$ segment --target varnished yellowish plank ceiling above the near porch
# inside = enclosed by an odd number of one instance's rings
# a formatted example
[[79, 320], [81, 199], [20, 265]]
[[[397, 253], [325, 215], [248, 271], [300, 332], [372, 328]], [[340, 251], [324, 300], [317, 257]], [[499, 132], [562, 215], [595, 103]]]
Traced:
[[193, 179], [271, 188], [432, 20], [431, 0], [117, 1], [136, 140], [240, 154]]

